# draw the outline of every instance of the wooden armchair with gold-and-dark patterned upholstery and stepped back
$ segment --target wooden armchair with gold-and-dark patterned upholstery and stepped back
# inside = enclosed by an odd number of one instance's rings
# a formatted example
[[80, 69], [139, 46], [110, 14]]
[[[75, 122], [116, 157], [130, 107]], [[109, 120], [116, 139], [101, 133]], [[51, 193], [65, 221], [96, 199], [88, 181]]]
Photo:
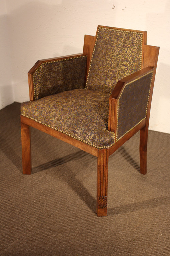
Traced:
[[21, 104], [23, 174], [31, 174], [30, 126], [97, 157], [97, 215], [107, 215], [108, 158], [140, 130], [140, 170], [159, 47], [145, 31], [98, 26], [82, 54], [39, 60]]

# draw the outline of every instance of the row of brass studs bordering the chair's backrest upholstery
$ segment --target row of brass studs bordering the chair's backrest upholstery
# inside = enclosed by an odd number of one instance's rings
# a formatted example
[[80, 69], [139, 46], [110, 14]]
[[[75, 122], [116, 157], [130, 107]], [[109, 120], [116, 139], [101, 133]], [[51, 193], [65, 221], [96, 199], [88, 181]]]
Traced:
[[[99, 27], [99, 29], [105, 29], [105, 30], [114, 30], [114, 31], [120, 31], [120, 32], [129, 32], [129, 33], [133, 33], [133, 34], [141, 34], [141, 51], [140, 51], [140, 69], [142, 67], [142, 44], [143, 44], [143, 33], [141, 32], [133, 32], [133, 31], [126, 31], [126, 30], [118, 30], [118, 29], [112, 29], [112, 28], [101, 28]], [[98, 33], [97, 33], [97, 37], [96, 37], [96, 41], [95, 41], [95, 46], [94, 46], [94, 50], [93, 50], [93, 53], [92, 53], [92, 56], [91, 56], [91, 61], [90, 61], [90, 67], [89, 67], [89, 71], [88, 71], [88, 75], [87, 75], [87, 81], [86, 81], [86, 86], [85, 86], [85, 89], [87, 87], [87, 82], [88, 82], [88, 78], [89, 78], [89, 73], [90, 73], [90, 69], [91, 69], [91, 64], [92, 64], [92, 59], [93, 59], [93, 56], [94, 56], [94, 52], [95, 52], [95, 48], [96, 48], [96, 43], [97, 43], [97, 39], [98, 39], [98, 34], [99, 34], [99, 30], [98, 30]]]

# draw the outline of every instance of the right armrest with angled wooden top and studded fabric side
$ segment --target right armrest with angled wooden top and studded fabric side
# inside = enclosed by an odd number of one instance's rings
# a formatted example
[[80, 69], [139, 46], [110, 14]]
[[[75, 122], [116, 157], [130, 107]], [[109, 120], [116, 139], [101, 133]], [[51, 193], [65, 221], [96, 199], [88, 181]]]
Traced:
[[116, 142], [146, 118], [153, 71], [147, 67], [116, 84], [109, 98], [108, 124]]

